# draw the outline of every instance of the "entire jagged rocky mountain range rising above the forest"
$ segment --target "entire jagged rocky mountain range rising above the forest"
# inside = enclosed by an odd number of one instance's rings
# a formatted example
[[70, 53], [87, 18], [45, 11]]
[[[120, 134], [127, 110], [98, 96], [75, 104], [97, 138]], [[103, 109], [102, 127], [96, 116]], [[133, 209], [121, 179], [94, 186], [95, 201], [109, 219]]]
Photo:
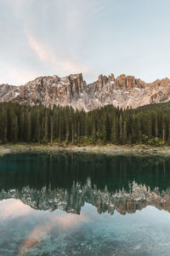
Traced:
[[112, 104], [119, 108], [137, 108], [170, 100], [170, 79], [158, 79], [146, 84], [133, 76], [113, 74], [87, 84], [82, 73], [64, 78], [39, 77], [25, 85], [0, 85], [0, 102], [19, 102], [31, 106], [71, 106], [85, 111]]

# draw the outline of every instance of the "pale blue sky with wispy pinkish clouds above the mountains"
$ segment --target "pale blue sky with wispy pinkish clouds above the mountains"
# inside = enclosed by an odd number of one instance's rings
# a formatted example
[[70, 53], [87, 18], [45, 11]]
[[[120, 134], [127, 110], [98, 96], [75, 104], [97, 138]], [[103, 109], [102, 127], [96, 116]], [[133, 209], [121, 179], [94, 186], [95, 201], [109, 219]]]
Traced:
[[170, 78], [169, 0], [0, 0], [0, 84]]

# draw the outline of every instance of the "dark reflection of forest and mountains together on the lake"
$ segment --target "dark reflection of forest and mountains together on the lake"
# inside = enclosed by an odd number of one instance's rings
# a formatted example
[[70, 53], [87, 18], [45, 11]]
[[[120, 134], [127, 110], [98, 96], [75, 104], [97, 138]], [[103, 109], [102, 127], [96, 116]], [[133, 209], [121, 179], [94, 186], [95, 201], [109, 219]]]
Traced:
[[8, 154], [0, 159], [0, 200], [53, 212], [170, 212], [170, 160], [91, 154]]

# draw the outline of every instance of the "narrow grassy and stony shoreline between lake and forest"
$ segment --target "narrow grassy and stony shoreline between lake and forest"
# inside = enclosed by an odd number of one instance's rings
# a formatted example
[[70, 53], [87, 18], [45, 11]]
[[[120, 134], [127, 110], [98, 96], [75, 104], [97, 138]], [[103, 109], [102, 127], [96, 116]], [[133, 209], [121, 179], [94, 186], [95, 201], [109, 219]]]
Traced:
[[153, 147], [149, 145], [60, 145], [59, 143], [37, 144], [37, 143], [16, 143], [0, 145], [0, 156], [4, 154], [17, 153], [88, 153], [107, 155], [160, 155], [170, 156], [170, 146]]

